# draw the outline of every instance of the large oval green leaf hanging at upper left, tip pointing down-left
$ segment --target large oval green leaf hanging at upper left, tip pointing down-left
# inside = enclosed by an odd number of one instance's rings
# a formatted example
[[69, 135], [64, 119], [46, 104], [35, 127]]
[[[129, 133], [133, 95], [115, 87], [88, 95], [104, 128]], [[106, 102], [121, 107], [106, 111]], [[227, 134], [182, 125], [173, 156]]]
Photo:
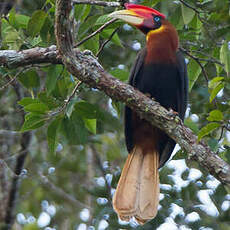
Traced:
[[35, 37], [41, 30], [47, 14], [42, 10], [37, 10], [33, 13], [27, 26], [27, 31], [31, 37]]

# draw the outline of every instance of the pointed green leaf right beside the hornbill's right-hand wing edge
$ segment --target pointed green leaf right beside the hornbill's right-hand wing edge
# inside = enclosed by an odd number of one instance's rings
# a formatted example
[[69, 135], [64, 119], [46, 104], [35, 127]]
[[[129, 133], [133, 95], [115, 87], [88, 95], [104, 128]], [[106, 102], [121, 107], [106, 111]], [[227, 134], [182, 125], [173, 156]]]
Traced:
[[188, 63], [189, 91], [191, 91], [200, 73], [201, 73], [200, 66], [197, 64], [195, 60], [190, 59]]

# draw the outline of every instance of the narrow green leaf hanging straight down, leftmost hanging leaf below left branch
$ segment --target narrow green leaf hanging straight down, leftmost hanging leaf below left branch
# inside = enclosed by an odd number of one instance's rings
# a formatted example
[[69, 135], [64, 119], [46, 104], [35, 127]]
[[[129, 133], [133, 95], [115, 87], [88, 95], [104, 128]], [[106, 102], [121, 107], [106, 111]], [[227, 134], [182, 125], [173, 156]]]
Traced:
[[63, 117], [57, 117], [53, 120], [47, 129], [47, 141], [50, 153], [54, 153], [57, 148], [57, 134]]

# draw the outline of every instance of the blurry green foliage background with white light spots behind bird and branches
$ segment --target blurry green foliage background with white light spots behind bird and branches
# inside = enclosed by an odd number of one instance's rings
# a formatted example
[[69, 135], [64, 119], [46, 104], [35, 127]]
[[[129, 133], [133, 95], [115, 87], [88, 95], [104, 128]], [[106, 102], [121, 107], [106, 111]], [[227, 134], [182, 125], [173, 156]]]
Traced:
[[[177, 28], [191, 90], [185, 123], [230, 163], [229, 2], [139, 2], [165, 13]], [[75, 5], [76, 43], [108, 21], [105, 15], [114, 10]], [[1, 50], [54, 45], [54, 14], [53, 0], [18, 1], [2, 16]], [[139, 31], [115, 22], [80, 49], [97, 55], [117, 28], [98, 58], [108, 72], [127, 81], [145, 43]], [[123, 106], [84, 84], [65, 103], [78, 81], [62, 65], [0, 67], [0, 74], [0, 157], [9, 183], [21, 154], [22, 132], [30, 135], [12, 229], [230, 229], [227, 189], [179, 148], [160, 171], [157, 217], [142, 227], [118, 221], [111, 199], [127, 155]]]

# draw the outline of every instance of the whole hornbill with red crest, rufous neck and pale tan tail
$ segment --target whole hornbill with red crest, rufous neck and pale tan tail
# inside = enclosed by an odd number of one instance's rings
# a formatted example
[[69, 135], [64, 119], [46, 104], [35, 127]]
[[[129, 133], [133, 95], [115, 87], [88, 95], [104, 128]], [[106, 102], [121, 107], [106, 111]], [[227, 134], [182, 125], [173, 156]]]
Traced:
[[[125, 4], [126, 10], [109, 16], [134, 25], [146, 35], [146, 46], [131, 70], [129, 84], [183, 120], [187, 107], [186, 63], [178, 51], [178, 34], [164, 14], [152, 8]], [[170, 158], [175, 141], [125, 107], [125, 162], [113, 207], [122, 220], [135, 217], [140, 224], [154, 218], [159, 204], [159, 173]]]

